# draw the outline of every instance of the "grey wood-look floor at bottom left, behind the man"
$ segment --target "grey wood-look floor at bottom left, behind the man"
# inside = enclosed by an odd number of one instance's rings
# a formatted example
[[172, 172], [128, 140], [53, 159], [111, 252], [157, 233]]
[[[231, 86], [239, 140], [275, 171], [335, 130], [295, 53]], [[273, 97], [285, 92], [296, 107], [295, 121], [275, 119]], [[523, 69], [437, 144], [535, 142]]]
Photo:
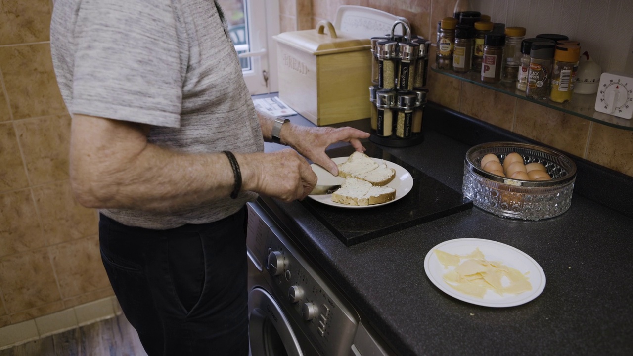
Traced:
[[0, 350], [0, 356], [147, 356], [123, 314]]

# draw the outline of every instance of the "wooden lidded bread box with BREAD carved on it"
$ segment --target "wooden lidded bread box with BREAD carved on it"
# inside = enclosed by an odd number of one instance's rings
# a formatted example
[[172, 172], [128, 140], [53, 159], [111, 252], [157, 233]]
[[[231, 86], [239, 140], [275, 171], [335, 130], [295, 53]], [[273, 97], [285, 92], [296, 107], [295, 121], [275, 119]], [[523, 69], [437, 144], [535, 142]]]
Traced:
[[369, 39], [339, 37], [327, 21], [273, 38], [284, 103], [319, 126], [370, 117]]

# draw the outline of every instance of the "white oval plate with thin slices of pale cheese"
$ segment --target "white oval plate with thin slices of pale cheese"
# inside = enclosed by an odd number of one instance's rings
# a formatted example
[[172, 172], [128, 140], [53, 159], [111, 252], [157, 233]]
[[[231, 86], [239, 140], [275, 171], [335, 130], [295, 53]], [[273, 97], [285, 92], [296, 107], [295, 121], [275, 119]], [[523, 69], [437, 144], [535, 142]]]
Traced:
[[534, 258], [487, 239], [452, 239], [434, 246], [424, 271], [444, 293], [484, 307], [522, 305], [545, 288], [545, 273]]

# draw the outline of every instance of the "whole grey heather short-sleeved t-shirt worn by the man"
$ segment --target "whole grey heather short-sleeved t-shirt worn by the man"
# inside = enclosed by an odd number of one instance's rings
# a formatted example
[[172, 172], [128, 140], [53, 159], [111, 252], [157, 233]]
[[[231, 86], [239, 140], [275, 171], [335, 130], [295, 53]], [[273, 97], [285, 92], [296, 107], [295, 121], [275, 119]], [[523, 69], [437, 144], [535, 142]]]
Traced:
[[[56, 0], [51, 53], [70, 113], [153, 125], [175, 151], [263, 151], [222, 10], [213, 0]], [[122, 224], [168, 229], [237, 212], [255, 193], [166, 214], [102, 210]]]

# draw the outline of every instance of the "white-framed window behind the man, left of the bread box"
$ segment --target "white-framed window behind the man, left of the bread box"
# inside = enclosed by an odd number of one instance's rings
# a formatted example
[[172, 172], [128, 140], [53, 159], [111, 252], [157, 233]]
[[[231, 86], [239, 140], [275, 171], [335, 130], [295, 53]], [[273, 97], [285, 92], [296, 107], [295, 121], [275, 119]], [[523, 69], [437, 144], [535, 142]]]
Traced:
[[249, 92], [278, 91], [277, 49], [272, 36], [279, 34], [279, 0], [218, 0], [218, 3], [229, 24]]

